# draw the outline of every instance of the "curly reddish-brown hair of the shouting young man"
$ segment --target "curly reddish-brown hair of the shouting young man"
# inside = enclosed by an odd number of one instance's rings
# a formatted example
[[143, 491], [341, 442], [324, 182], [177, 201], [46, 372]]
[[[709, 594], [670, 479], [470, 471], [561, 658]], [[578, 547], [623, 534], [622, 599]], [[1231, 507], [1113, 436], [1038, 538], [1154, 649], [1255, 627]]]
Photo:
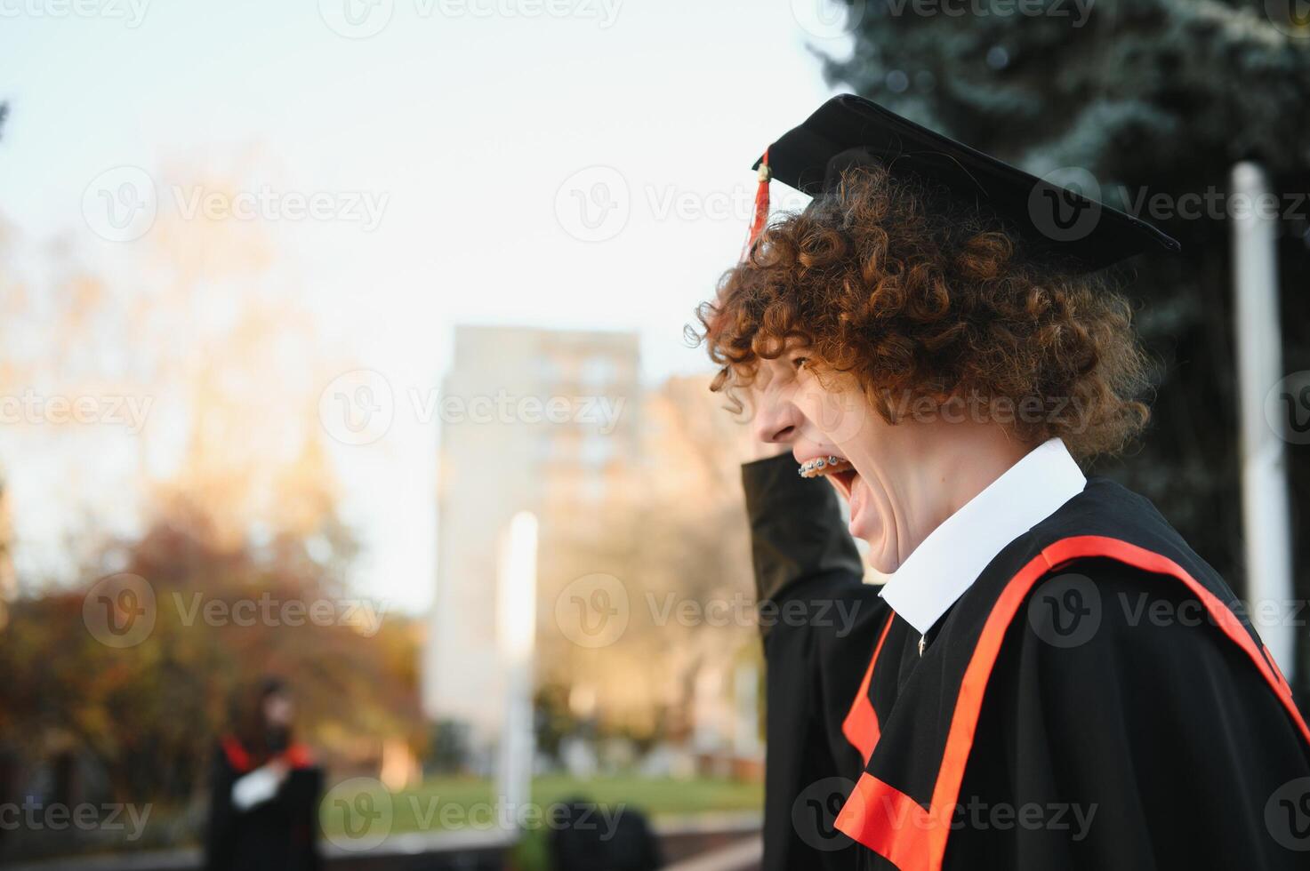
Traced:
[[888, 423], [907, 398], [1040, 407], [993, 419], [1090, 458], [1148, 418], [1146, 359], [1111, 282], [1043, 261], [989, 212], [879, 165], [772, 223], [697, 314], [722, 367], [711, 388], [736, 410], [760, 359], [798, 343], [820, 376], [854, 375]]

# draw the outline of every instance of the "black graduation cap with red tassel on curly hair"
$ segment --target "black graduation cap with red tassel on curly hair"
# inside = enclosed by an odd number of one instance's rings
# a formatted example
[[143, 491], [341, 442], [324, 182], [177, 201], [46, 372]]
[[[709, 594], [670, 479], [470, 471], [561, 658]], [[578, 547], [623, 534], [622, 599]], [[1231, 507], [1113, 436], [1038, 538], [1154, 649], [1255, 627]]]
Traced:
[[[1074, 272], [1090, 272], [1146, 250], [1182, 248], [1146, 221], [921, 127], [863, 97], [841, 94], [783, 134], [755, 162], [760, 187], [745, 251], [768, 221], [770, 178], [821, 196], [837, 186], [845, 169], [869, 162], [882, 164], [893, 178], [913, 177], [943, 202], [996, 216], [1019, 237], [1027, 255], [1058, 262]], [[1096, 187], [1095, 178], [1083, 170], [1073, 170], [1070, 181]]]

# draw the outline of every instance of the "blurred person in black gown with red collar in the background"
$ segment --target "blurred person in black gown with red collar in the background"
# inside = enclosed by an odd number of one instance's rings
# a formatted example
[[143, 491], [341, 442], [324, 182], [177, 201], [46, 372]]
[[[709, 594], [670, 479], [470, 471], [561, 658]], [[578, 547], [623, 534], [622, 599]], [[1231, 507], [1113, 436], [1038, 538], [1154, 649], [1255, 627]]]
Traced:
[[316, 871], [322, 773], [293, 740], [288, 686], [265, 677], [236, 698], [210, 775], [207, 871]]

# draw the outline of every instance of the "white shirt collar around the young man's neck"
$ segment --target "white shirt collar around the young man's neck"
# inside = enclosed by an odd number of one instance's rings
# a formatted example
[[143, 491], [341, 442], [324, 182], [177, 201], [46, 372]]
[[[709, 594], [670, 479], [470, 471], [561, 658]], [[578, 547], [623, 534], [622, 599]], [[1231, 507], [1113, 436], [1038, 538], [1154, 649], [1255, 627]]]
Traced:
[[929, 533], [880, 596], [920, 634], [927, 633], [1006, 545], [1086, 483], [1064, 441], [1040, 444]]

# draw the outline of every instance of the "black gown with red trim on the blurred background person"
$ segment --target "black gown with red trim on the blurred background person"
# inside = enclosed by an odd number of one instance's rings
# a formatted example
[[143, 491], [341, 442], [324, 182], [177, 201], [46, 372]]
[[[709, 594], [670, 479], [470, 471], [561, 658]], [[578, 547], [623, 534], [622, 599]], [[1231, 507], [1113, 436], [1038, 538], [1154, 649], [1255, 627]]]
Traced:
[[300, 744], [283, 757], [291, 770], [276, 795], [242, 811], [232, 802], [232, 785], [254, 765], [236, 739], [220, 743], [210, 773], [206, 871], [318, 871], [322, 770]]

